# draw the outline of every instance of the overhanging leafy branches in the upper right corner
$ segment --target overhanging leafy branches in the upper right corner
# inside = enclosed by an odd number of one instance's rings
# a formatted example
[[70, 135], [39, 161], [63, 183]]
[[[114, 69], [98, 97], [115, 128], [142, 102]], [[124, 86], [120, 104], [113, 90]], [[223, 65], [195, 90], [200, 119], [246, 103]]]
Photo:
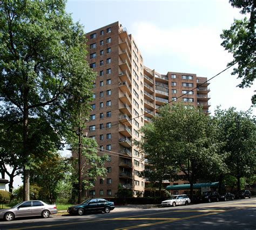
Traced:
[[[232, 75], [238, 75], [242, 81], [239, 87], [250, 87], [256, 76], [255, 68], [255, 1], [253, 0], [230, 0], [230, 3], [235, 8], [240, 8], [241, 13], [249, 13], [250, 18], [241, 20], [234, 19], [234, 23], [228, 30], [223, 30], [220, 35], [223, 42], [221, 45], [233, 53], [232, 62], [227, 66], [232, 66], [237, 63], [237, 67], [233, 69]], [[252, 103], [256, 103], [256, 96], [252, 97]]]

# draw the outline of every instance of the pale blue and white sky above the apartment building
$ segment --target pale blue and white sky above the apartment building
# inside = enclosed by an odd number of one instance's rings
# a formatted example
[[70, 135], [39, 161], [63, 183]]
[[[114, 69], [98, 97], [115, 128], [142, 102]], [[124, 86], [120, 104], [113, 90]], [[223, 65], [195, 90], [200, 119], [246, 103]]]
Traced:
[[[207, 78], [232, 60], [220, 45], [220, 33], [230, 28], [234, 18], [244, 17], [228, 0], [70, 0], [66, 11], [84, 25], [85, 32], [119, 21], [135, 38], [144, 65], [159, 73], [187, 72]], [[218, 105], [237, 110], [251, 106], [255, 85], [240, 89], [236, 87], [240, 80], [230, 73], [231, 69], [210, 82], [212, 113]], [[21, 184], [20, 178], [15, 180], [15, 187]]]

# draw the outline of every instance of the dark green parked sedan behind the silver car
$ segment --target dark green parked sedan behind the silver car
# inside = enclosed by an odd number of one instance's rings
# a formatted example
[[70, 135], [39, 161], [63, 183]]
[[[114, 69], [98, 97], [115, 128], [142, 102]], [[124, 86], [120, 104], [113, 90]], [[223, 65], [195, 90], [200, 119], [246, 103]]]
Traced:
[[79, 205], [68, 208], [68, 213], [83, 215], [85, 212], [100, 212], [109, 213], [114, 209], [114, 202], [105, 199], [88, 199]]

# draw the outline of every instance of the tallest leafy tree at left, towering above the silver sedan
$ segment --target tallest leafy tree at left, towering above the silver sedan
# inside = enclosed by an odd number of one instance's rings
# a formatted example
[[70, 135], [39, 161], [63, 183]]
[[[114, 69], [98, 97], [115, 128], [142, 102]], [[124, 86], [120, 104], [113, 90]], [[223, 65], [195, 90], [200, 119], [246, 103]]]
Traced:
[[64, 0], [3, 0], [0, 25], [1, 116], [12, 113], [14, 123], [21, 121], [23, 200], [29, 200], [31, 119], [44, 118], [65, 137], [75, 99], [89, 107], [95, 74], [86, 62], [83, 28], [65, 12]]

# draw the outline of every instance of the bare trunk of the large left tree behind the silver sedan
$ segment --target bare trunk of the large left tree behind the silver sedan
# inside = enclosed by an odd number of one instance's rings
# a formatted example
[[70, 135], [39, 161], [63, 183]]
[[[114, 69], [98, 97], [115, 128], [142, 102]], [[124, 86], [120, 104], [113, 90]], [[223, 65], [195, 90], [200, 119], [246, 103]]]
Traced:
[[29, 161], [28, 150], [28, 120], [29, 120], [29, 108], [28, 108], [28, 90], [24, 92], [24, 111], [23, 111], [23, 160], [24, 160], [24, 174], [23, 174], [23, 201], [30, 200], [29, 197], [29, 178], [30, 171], [26, 168], [26, 164]]

